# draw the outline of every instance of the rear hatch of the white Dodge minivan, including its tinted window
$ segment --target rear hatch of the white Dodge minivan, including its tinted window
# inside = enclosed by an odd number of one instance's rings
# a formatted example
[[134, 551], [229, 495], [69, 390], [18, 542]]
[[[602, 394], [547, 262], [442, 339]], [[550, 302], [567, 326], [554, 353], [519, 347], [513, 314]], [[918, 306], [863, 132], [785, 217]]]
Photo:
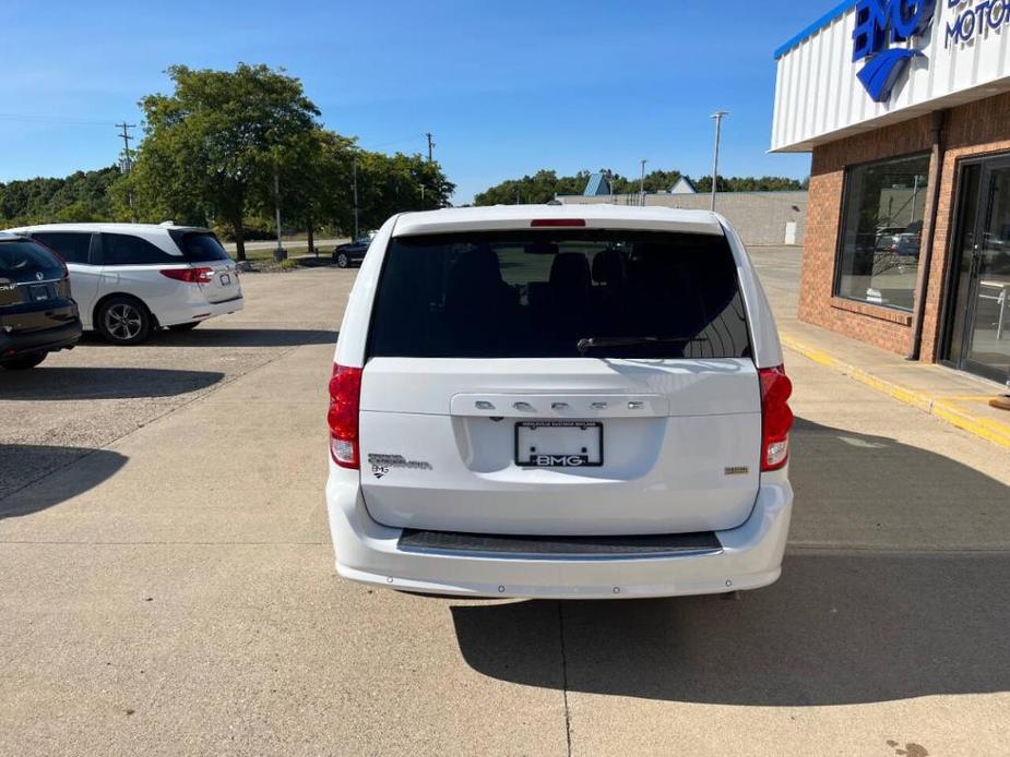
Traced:
[[760, 388], [714, 228], [391, 239], [360, 396], [371, 516], [566, 536], [741, 524]]

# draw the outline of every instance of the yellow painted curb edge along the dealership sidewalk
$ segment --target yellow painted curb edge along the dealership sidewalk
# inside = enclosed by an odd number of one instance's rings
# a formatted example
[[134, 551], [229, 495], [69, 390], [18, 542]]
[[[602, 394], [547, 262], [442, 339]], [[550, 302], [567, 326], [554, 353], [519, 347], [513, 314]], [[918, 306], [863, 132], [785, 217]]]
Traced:
[[901, 384], [895, 384], [886, 378], [875, 376], [863, 369], [839, 360], [830, 352], [805, 345], [796, 337], [782, 334], [780, 338], [784, 347], [788, 347], [794, 352], [799, 352], [803, 357], [812, 360], [819, 365], [840, 371], [851, 378], [855, 378], [860, 384], [869, 386], [871, 389], [876, 389], [900, 402], [911, 405], [924, 412], [928, 412], [930, 416], [947, 421], [951, 425], [955, 425], [974, 436], [978, 436], [987, 442], [993, 442], [994, 444], [1010, 449], [1010, 429], [1002, 423], [997, 423], [988, 418], [977, 418], [947, 399], [934, 397], [925, 392], [916, 392]]

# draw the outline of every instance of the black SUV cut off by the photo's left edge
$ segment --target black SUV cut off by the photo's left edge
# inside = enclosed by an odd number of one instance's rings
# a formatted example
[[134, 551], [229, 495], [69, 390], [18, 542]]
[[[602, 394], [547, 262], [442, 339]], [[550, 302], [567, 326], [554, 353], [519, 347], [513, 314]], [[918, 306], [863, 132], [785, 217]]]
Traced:
[[35, 368], [80, 338], [63, 262], [37, 242], [0, 232], [0, 368]]

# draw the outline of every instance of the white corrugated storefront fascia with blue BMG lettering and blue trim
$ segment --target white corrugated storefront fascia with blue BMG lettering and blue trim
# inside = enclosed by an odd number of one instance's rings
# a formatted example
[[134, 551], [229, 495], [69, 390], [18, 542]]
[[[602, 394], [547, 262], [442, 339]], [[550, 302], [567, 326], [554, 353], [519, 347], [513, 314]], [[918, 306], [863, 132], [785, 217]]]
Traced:
[[1010, 0], [842, 0], [775, 51], [772, 149], [1010, 93]]

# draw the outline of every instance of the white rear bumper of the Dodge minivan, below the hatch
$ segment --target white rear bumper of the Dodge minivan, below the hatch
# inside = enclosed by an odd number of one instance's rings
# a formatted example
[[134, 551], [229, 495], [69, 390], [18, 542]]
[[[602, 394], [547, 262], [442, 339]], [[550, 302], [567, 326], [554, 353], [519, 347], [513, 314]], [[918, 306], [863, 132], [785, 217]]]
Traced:
[[368, 515], [357, 472], [331, 464], [326, 501], [345, 578], [423, 593], [545, 599], [628, 599], [757, 589], [781, 573], [793, 507], [784, 476], [761, 486], [750, 517], [716, 531], [717, 553], [670, 557], [530, 560], [424, 554], [401, 549], [403, 530]]

